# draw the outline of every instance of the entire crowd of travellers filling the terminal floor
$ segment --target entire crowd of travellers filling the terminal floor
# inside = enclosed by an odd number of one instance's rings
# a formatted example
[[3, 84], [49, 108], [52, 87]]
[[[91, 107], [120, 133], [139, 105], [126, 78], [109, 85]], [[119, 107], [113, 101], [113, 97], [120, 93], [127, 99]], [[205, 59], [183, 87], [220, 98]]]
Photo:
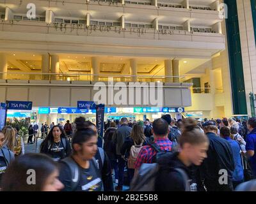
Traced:
[[[42, 128], [38, 154], [24, 154], [19, 128], [0, 132], [2, 191], [246, 191], [256, 182], [256, 117], [123, 117], [105, 123], [103, 147], [84, 117]], [[27, 183], [29, 169], [35, 185]]]

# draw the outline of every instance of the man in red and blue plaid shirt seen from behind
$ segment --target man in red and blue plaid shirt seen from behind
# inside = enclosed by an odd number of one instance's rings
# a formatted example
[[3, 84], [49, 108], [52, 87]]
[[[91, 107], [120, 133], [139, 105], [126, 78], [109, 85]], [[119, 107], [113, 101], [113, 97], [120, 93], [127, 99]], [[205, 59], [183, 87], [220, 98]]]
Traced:
[[[153, 122], [152, 133], [154, 135], [154, 142], [159, 146], [161, 150], [171, 151], [172, 142], [168, 139], [169, 126], [166, 120], [156, 119]], [[143, 163], [153, 163], [154, 156], [156, 156], [157, 151], [151, 145], [145, 145], [140, 150], [137, 161], [135, 165], [135, 171], [138, 172], [141, 164]]]

